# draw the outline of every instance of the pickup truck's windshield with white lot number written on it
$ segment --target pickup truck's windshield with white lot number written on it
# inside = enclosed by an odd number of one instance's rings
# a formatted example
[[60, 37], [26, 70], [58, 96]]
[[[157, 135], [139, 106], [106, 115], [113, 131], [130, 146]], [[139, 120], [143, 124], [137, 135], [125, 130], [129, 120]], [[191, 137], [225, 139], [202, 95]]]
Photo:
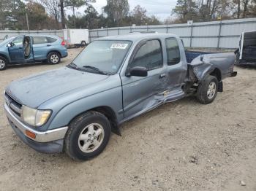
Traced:
[[116, 74], [131, 44], [112, 40], [91, 42], [69, 66], [98, 74]]

